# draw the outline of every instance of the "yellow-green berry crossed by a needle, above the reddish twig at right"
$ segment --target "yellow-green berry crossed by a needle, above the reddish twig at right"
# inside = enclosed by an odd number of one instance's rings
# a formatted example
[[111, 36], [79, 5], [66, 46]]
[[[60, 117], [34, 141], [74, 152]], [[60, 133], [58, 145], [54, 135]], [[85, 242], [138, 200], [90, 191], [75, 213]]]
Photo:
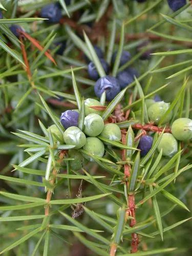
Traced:
[[[150, 121], [155, 122], [156, 124], [159, 123], [161, 117], [165, 114], [165, 112], [169, 108], [169, 103], [165, 103], [164, 101], [158, 101], [152, 104], [148, 108], [148, 117]], [[170, 112], [164, 119], [163, 123], [167, 123], [170, 118], [172, 118], [172, 112]]]

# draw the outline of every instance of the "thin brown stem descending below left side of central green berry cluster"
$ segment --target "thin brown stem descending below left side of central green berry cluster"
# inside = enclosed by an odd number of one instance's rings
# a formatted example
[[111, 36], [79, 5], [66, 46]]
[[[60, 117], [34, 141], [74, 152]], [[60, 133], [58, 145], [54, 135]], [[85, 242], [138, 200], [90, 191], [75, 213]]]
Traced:
[[[63, 157], [65, 155], [66, 155], [66, 151], [65, 150], [60, 151], [59, 159], [57, 160], [57, 162], [61, 163], [62, 159], [63, 159]], [[51, 185], [53, 185], [55, 183], [55, 179], [57, 177], [57, 170], [56, 170], [56, 168], [53, 169], [52, 175], [53, 175], [53, 178], [50, 180], [50, 184]], [[53, 194], [53, 191], [51, 189], [48, 189], [48, 191], [47, 191], [47, 198], [46, 198], [47, 205], [45, 207], [45, 216], [49, 215], [49, 209], [50, 209], [50, 204], [49, 203], [51, 201], [52, 194]]]

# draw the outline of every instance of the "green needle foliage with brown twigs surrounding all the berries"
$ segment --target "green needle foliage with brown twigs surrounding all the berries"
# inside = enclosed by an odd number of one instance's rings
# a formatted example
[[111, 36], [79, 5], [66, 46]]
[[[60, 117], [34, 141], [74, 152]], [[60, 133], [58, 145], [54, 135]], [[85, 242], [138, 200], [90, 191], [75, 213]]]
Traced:
[[[173, 12], [162, 0], [60, 0], [60, 23], [47, 24], [39, 11], [52, 2], [0, 4], [0, 254], [190, 255], [191, 141], [178, 142], [172, 158], [157, 151], [177, 118], [192, 118], [190, 1]], [[19, 38], [9, 30], [17, 23], [25, 29]], [[59, 55], [61, 41], [66, 48]], [[85, 56], [105, 76], [94, 45], [113, 76], [130, 67], [139, 76], [111, 102], [103, 93], [95, 107], [104, 121], [116, 118], [122, 141], [99, 136], [104, 157], [80, 148], [77, 171], [68, 154], [74, 145], [48, 127], [55, 124], [63, 135], [61, 112], [78, 109], [83, 130], [84, 99], [96, 98]], [[141, 60], [149, 49], [151, 58]], [[132, 58], [120, 66], [123, 50]], [[146, 102], [157, 94], [170, 105], [154, 125]], [[143, 131], [154, 141], [141, 157]]]

